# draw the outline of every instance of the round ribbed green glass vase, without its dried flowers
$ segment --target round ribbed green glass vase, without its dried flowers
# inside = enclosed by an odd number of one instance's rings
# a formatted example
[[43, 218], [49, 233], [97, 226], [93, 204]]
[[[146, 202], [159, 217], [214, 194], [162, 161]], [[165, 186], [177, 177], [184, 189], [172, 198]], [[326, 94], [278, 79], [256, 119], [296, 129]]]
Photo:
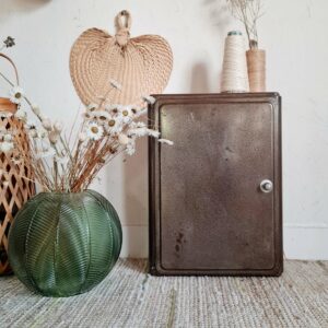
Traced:
[[119, 218], [98, 192], [43, 192], [16, 214], [9, 260], [30, 290], [72, 296], [90, 291], [109, 273], [121, 239]]

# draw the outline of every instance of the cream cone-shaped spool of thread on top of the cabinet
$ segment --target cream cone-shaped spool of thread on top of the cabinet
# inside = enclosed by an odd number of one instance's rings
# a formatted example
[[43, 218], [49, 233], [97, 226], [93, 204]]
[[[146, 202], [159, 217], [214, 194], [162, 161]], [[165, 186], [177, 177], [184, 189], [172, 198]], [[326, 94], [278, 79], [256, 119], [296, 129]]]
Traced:
[[241, 32], [230, 32], [225, 38], [221, 92], [248, 91], [245, 39]]

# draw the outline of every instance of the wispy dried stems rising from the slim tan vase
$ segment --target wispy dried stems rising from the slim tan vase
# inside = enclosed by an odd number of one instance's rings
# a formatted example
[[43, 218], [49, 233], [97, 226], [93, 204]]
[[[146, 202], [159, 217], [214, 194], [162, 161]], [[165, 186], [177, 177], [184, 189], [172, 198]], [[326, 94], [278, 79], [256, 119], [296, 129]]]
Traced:
[[257, 22], [263, 15], [261, 0], [226, 0], [234, 17], [239, 20], [246, 30], [249, 48], [258, 48]]

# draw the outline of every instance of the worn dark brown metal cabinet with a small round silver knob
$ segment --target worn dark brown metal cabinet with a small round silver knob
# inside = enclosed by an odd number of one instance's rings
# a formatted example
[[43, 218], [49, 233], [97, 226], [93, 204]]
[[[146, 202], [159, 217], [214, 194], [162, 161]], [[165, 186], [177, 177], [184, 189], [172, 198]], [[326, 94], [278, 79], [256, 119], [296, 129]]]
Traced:
[[278, 274], [278, 96], [162, 96], [152, 119], [174, 141], [151, 143], [153, 271]]

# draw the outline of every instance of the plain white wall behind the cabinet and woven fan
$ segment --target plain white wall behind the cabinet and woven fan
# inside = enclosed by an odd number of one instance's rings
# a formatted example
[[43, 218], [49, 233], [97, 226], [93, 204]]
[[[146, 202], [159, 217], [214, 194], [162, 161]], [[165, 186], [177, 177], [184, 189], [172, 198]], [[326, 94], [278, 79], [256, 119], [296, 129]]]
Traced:
[[[80, 104], [69, 75], [70, 46], [89, 27], [113, 32], [119, 10], [131, 11], [132, 35], [160, 34], [171, 43], [175, 66], [166, 92], [172, 93], [216, 92], [224, 36], [238, 26], [221, 0], [0, 1], [0, 37], [16, 38], [9, 54], [22, 85], [49, 116], [67, 121]], [[283, 96], [285, 254], [328, 259], [328, 2], [265, 2], [259, 36], [268, 52], [268, 90]], [[96, 186], [121, 218], [122, 256], [148, 254], [145, 144], [126, 163], [117, 159]]]

